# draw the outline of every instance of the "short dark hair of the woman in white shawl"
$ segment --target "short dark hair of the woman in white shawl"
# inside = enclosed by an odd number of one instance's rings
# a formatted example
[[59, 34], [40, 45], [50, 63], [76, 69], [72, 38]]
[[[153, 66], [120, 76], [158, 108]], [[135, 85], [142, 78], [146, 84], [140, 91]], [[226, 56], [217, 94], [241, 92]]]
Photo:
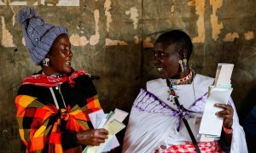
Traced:
[[189, 35], [180, 30], [167, 31], [161, 34], [154, 44], [157, 42], [168, 42], [170, 44], [174, 44], [177, 52], [185, 51], [187, 53], [188, 60], [193, 50], [193, 44]]

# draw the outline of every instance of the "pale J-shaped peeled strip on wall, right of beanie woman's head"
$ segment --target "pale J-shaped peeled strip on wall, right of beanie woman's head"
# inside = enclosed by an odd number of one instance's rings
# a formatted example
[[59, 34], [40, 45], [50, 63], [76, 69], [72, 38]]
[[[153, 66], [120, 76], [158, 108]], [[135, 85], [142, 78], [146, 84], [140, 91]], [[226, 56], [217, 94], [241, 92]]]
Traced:
[[94, 19], [95, 19], [95, 35], [90, 36], [90, 45], [96, 45], [100, 41], [100, 32], [99, 32], [100, 13], [99, 13], [99, 9], [96, 9], [94, 11]]

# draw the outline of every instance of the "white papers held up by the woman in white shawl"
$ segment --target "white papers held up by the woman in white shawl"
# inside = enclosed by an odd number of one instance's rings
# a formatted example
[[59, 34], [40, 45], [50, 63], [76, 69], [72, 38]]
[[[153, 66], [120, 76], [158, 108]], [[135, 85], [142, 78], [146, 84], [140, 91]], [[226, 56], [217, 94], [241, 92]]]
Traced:
[[216, 116], [216, 112], [223, 111], [222, 108], [214, 106], [216, 103], [227, 104], [230, 99], [231, 74], [234, 65], [228, 63], [219, 63], [216, 71], [214, 86], [209, 88], [209, 97], [205, 107], [204, 114], [201, 119], [199, 133], [201, 133], [201, 141], [212, 141], [216, 137], [220, 137], [223, 118]]

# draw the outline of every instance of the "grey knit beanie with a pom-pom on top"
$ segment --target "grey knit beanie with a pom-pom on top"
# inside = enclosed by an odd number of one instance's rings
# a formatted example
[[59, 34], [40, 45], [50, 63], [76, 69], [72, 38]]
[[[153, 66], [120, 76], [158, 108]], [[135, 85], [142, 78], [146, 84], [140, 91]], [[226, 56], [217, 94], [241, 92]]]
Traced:
[[48, 54], [55, 38], [62, 33], [67, 34], [67, 29], [61, 26], [54, 26], [44, 22], [35, 13], [33, 8], [22, 8], [18, 14], [18, 21], [22, 26], [22, 32], [26, 41], [26, 48], [31, 54], [36, 65]]

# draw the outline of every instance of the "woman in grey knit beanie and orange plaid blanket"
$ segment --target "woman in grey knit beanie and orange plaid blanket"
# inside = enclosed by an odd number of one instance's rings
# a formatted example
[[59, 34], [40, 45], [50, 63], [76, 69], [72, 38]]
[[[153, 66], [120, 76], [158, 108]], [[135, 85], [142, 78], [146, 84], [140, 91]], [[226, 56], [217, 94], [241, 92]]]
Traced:
[[15, 99], [26, 151], [81, 152], [105, 142], [106, 129], [90, 129], [88, 114], [102, 108], [90, 75], [71, 67], [67, 29], [45, 23], [33, 8], [21, 9], [18, 20], [33, 62], [42, 66], [23, 80]]

